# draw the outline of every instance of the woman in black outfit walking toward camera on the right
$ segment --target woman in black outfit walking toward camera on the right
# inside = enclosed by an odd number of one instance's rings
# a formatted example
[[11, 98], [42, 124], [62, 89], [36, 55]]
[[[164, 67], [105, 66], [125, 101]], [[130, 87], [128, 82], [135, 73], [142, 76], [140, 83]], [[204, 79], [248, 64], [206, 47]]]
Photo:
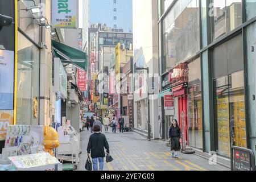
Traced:
[[172, 158], [177, 158], [177, 152], [180, 151], [181, 133], [176, 119], [172, 120], [169, 129], [169, 140], [171, 141]]

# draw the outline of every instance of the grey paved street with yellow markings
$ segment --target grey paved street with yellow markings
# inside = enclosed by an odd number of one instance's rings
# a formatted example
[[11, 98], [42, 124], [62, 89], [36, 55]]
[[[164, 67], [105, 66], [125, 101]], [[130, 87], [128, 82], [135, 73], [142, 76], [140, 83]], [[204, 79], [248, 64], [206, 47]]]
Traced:
[[[179, 154], [179, 159], [172, 159], [170, 148], [159, 140], [148, 142], [141, 135], [129, 132], [123, 134], [104, 133], [110, 146], [114, 161], [105, 163], [105, 171], [222, 171], [229, 170], [220, 165], [210, 165], [208, 160], [197, 155]], [[81, 133], [79, 171], [85, 171], [86, 147], [90, 132]]]

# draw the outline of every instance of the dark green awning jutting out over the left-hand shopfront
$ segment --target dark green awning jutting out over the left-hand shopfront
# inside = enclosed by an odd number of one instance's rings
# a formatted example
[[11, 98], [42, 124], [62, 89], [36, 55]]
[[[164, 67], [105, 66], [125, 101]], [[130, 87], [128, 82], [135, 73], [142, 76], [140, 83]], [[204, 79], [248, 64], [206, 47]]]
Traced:
[[76, 67], [87, 71], [88, 56], [85, 52], [56, 42], [55, 40], [52, 40], [52, 49], [55, 56], [59, 57], [62, 63], [73, 64]]

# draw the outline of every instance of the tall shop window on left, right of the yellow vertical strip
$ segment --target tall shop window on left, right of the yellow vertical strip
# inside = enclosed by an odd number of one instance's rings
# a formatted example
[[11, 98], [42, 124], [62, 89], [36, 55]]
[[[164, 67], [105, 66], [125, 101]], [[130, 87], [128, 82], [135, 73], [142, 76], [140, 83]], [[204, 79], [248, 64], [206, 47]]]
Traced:
[[39, 49], [18, 33], [17, 125], [38, 125], [34, 97], [39, 98]]

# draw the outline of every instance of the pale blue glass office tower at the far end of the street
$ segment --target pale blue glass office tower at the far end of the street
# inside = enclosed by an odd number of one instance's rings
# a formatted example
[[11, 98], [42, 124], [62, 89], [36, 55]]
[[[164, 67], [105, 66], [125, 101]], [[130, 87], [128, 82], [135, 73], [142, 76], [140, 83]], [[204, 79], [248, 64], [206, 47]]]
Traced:
[[90, 24], [102, 23], [107, 27], [133, 31], [132, 0], [90, 1]]

